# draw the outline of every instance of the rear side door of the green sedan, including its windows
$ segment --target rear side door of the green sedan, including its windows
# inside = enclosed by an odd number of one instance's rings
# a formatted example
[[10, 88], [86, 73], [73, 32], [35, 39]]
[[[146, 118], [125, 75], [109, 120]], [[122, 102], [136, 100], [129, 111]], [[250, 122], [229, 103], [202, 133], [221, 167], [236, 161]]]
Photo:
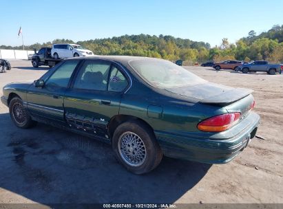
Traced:
[[70, 127], [106, 139], [107, 124], [118, 115], [129, 77], [109, 61], [86, 60], [64, 97]]

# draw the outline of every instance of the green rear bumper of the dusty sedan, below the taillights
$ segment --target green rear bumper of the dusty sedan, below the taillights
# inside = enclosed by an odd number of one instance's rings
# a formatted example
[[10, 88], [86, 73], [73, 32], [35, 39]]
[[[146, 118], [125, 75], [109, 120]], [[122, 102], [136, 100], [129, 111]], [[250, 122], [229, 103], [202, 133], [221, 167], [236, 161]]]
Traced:
[[[230, 162], [255, 136], [260, 124], [260, 116], [249, 113], [237, 125], [227, 131], [210, 133], [207, 137], [193, 134], [172, 134], [155, 131], [163, 153], [167, 157], [187, 159], [209, 164]], [[207, 133], [209, 134], [209, 133]]]

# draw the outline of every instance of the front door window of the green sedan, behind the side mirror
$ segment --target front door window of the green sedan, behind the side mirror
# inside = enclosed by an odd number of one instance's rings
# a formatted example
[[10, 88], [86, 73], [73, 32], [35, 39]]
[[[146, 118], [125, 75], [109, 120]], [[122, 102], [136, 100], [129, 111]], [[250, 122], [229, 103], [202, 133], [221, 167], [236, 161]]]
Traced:
[[69, 83], [69, 80], [72, 76], [72, 73], [74, 72], [74, 69], [76, 68], [76, 65], [78, 65], [78, 60], [76, 61], [65, 61], [62, 65], [60, 65], [54, 74], [50, 76], [50, 78], [47, 80], [45, 86], [46, 87], [62, 87], [66, 88], [67, 84]]

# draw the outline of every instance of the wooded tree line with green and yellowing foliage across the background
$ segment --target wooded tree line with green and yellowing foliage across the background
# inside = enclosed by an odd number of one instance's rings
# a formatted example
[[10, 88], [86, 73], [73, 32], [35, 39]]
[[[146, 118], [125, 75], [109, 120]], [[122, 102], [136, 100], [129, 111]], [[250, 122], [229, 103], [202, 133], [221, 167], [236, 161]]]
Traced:
[[[46, 43], [35, 43], [25, 46], [27, 50], [39, 50], [54, 43], [74, 43], [69, 39], [56, 39]], [[147, 34], [125, 35], [109, 39], [78, 41], [94, 54], [129, 55], [164, 58], [169, 61], [181, 59], [189, 63], [224, 60], [266, 60], [275, 63], [283, 62], [283, 25], [274, 25], [271, 30], [257, 35], [253, 30], [236, 43], [222, 39], [220, 46], [211, 47], [209, 43], [175, 38], [174, 36], [150, 36]], [[22, 46], [1, 45], [1, 49], [21, 50]]]

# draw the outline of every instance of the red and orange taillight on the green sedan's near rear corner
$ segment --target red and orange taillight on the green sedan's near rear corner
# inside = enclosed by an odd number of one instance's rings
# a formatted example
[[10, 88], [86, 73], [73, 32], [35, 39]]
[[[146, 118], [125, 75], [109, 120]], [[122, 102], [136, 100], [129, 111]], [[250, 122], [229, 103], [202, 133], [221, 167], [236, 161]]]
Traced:
[[226, 113], [216, 115], [198, 124], [200, 131], [220, 132], [229, 129], [240, 118], [241, 113]]

